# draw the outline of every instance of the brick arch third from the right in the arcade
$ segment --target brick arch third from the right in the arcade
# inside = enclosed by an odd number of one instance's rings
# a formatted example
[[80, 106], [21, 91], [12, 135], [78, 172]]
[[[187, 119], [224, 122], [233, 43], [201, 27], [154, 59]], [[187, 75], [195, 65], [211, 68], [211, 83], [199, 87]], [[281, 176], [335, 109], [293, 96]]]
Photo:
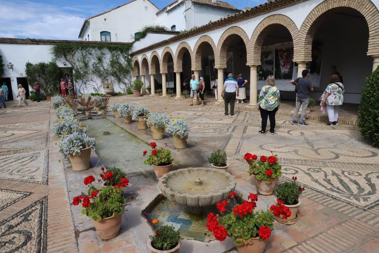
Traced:
[[223, 33], [220, 37], [219, 42], [217, 44], [217, 50], [215, 52], [215, 66], [216, 68], [226, 68], [226, 54], [229, 47], [230, 40], [232, 39], [232, 35], [240, 36], [245, 43], [247, 56], [246, 58], [250, 58], [251, 54], [251, 43], [249, 36], [247, 36], [246, 32], [239, 26], [232, 26]]

